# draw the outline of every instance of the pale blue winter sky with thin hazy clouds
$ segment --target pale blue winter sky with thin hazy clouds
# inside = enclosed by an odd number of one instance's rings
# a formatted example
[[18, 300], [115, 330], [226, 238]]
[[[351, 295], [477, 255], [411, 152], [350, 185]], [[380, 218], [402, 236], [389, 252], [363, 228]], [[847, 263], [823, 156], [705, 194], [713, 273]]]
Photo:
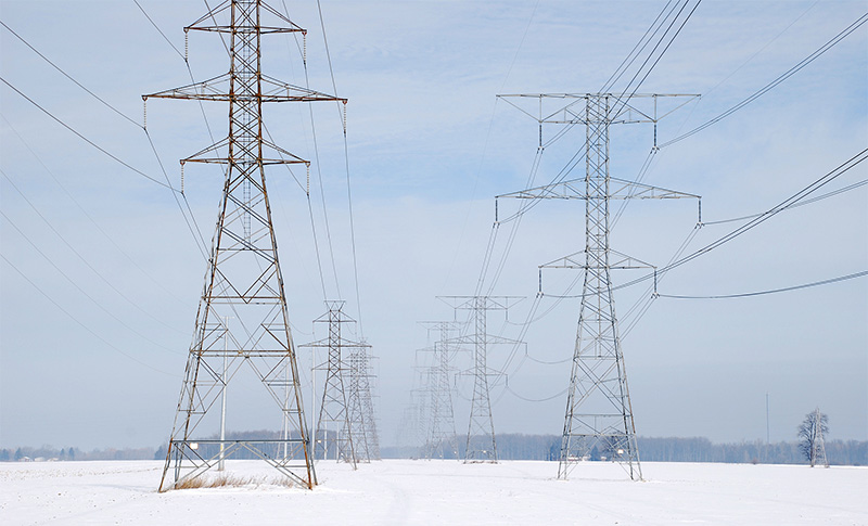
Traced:
[[[9, 28], [114, 110], [3, 27], [0, 76], [127, 165], [180, 187], [177, 161], [214, 142], [209, 129], [215, 140], [226, 133], [226, 106], [151, 100], [145, 134], [141, 94], [217, 76], [228, 60], [216, 35], [191, 33], [190, 70], [184, 64], [182, 27], [206, 12], [204, 2], [139, 3], [170, 44], [131, 1], [0, 0]], [[312, 161], [309, 208], [306, 174], [267, 172], [294, 339], [323, 336], [312, 325], [326, 310], [321, 282], [328, 299], [347, 302], [376, 357], [381, 444], [395, 445], [411, 434], [404, 416], [430, 356], [420, 351], [432, 339], [419, 322], [454, 319], [437, 296], [474, 293], [494, 196], [531, 181], [539, 128], [496, 94], [597, 92], [665, 2], [335, 1], [321, 3], [322, 20], [316, 2], [285, 5], [307, 39], [270, 37], [265, 73], [304, 86], [306, 49], [310, 87], [349, 100], [346, 143], [332, 103], [265, 110], [275, 142]], [[660, 121], [659, 143], [750, 97], [866, 11], [865, 1], [703, 1], [640, 89], [702, 95]], [[0, 114], [0, 447], [156, 447], [175, 414], [206, 270], [197, 243], [209, 244], [219, 171], [186, 169], [188, 224], [173, 192], [5, 84]], [[542, 129], [545, 139], [557, 132]], [[612, 177], [639, 176], [653, 133], [649, 125], [612, 128]], [[533, 182], [552, 180], [583, 141], [576, 127], [547, 147]], [[771, 208], [866, 144], [863, 26], [755, 102], [662, 147], [643, 181], [701, 195], [709, 223]], [[866, 176], [858, 165], [818, 193]], [[786, 210], [666, 273], [658, 292], [740, 294], [864, 271], [866, 205], [860, 187]], [[500, 217], [514, 206], [500, 200]], [[634, 202], [612, 247], [662, 267], [697, 221], [693, 200]], [[506, 372], [492, 392], [495, 427], [559, 434], [578, 300], [553, 296], [570, 295], [575, 274], [547, 272], [548, 296], [534, 297], [538, 266], [584, 246], [584, 206], [540, 203], [505, 253], [516, 223], [497, 229], [502, 270], [484, 277], [489, 294], [525, 297], [508, 317], [489, 315], [490, 332], [527, 344], [526, 352], [489, 351], [489, 365]], [[687, 249], [740, 224], [706, 224]], [[641, 274], [618, 271], [613, 282]], [[615, 293], [639, 435], [755, 440], [768, 424], [773, 441], [793, 440], [819, 407], [828, 438], [868, 439], [868, 279], [748, 298], [659, 297], [636, 317], [630, 308], [648, 294], [644, 284]], [[468, 370], [469, 352], [454, 358], [457, 373]], [[309, 351], [299, 350], [298, 363], [309, 405]], [[469, 376], [456, 374], [455, 387], [460, 434]], [[241, 431], [243, 418], [228, 426]]]

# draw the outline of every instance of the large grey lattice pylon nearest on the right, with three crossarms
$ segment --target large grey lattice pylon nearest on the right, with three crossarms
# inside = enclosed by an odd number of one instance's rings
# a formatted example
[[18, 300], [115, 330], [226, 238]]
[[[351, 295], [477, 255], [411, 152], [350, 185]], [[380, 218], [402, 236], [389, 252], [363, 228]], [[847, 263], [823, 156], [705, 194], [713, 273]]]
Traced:
[[[630, 478], [641, 479], [633, 406], [618, 338], [610, 271], [650, 266], [610, 248], [609, 206], [613, 200], [699, 196], [610, 177], [609, 127], [613, 124], [653, 123], [656, 139], [656, 123], [665, 116], [658, 115], [658, 99], [697, 95], [640, 94], [622, 99], [611, 93], [537, 93], [498, 97], [505, 98], [520, 110], [522, 108], [519, 105], [507, 98], [539, 100], [538, 116], [522, 111], [539, 123], [540, 145], [542, 124], [584, 125], [586, 129], [583, 179], [554, 182], [497, 197], [585, 201], [585, 249], [540, 266], [540, 275], [544, 268], [582, 269], [585, 273], [558, 478], [566, 478], [576, 462], [588, 458], [593, 448], [599, 448], [610, 459], [625, 465]], [[546, 99], [567, 102], [557, 111], [544, 113], [542, 102]], [[650, 100], [653, 108], [639, 110], [634, 99]]]

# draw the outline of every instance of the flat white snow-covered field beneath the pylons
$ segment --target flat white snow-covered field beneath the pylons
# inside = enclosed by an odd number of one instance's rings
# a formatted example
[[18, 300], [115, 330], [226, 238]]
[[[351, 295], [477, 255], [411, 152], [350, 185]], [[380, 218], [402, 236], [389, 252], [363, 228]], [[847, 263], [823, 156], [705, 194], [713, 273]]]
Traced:
[[[263, 464], [229, 463], [252, 474]], [[868, 525], [868, 469], [386, 460], [318, 464], [314, 491], [263, 484], [157, 493], [153, 461], [0, 463], [0, 524]], [[258, 471], [271, 478], [270, 471]]]

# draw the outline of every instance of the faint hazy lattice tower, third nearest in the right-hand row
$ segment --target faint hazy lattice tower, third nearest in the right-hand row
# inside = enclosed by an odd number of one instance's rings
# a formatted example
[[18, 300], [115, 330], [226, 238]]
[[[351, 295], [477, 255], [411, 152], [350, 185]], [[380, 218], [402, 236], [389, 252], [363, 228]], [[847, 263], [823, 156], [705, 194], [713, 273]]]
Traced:
[[452, 409], [452, 388], [449, 382], [452, 371], [449, 359], [454, 346], [449, 333], [457, 329], [456, 322], [422, 322], [429, 331], [439, 332], [439, 339], [434, 342], [432, 365], [427, 368], [426, 396], [430, 400], [427, 429], [422, 456], [425, 459], [443, 459], [447, 453], [458, 459], [458, 436], [455, 432], [455, 412]]

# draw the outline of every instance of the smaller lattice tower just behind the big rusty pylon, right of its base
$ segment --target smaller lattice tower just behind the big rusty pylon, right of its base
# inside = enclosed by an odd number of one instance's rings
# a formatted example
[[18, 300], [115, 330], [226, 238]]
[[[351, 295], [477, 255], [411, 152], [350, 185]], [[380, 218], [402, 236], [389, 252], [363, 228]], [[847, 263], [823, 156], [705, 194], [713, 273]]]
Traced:
[[[329, 311], [320, 316], [314, 323], [328, 324], [329, 336], [317, 342], [305, 344], [302, 347], [311, 349], [328, 349], [328, 358], [324, 367], [317, 369], [326, 371], [326, 383], [322, 388], [320, 399], [319, 418], [315, 431], [315, 442], [319, 445], [319, 451], [323, 459], [329, 458], [329, 444], [334, 444], [334, 458], [339, 462], [347, 462], [356, 467], [358, 462], [359, 433], [363, 442], [365, 431], [361, 424], [361, 406], [358, 403], [358, 411], [354, 414], [353, 402], [358, 402], [358, 397], [352, 397], [352, 376], [353, 368], [347, 356], [356, 354], [359, 349], [370, 347], [367, 344], [353, 342], [343, 336], [342, 326], [345, 323], [355, 323], [356, 320], [346, 316], [343, 311], [344, 302], [326, 302]], [[348, 374], [347, 374], [348, 373]], [[350, 377], [347, 377], [350, 376]], [[354, 421], [356, 419], [356, 421]], [[315, 453], [319, 453], [315, 451]], [[317, 454], [319, 458], [319, 454]]]

